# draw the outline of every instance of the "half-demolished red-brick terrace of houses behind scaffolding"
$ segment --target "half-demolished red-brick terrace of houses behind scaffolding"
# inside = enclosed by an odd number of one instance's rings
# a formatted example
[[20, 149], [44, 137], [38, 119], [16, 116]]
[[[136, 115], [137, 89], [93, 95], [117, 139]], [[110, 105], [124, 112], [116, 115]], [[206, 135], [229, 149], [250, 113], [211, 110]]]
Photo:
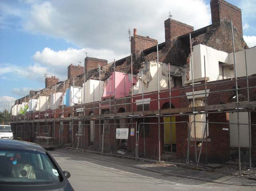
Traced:
[[[84, 67], [68, 67], [68, 80], [46, 78], [44, 90], [12, 107], [16, 137], [45, 134], [54, 144], [102, 153], [122, 148], [136, 159], [171, 152], [186, 162], [200, 153], [203, 161], [255, 163], [256, 47], [243, 40], [239, 8], [211, 0], [211, 15], [212, 24], [195, 31], [166, 19], [160, 44], [134, 29], [130, 56], [86, 57]], [[19, 113], [22, 104], [28, 112]], [[127, 139], [116, 138], [121, 128]]]

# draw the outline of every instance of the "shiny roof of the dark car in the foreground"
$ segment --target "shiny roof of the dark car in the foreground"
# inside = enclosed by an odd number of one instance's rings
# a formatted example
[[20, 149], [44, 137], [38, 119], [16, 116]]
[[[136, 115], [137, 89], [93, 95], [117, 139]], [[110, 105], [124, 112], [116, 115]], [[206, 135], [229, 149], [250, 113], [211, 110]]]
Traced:
[[25, 150], [31, 150], [31, 151], [46, 152], [43, 147], [35, 143], [29, 143], [25, 141], [18, 141], [18, 140], [12, 140], [12, 139], [0, 139], [0, 148], [25, 149]]

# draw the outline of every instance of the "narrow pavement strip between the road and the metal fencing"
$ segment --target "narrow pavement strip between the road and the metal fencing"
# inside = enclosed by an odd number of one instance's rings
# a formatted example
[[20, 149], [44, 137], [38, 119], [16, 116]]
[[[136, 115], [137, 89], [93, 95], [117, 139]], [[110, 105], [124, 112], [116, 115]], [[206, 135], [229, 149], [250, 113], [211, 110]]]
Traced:
[[190, 178], [194, 180], [208, 181], [208, 182], [220, 183], [220, 184], [226, 184], [226, 185], [256, 187], [255, 180], [248, 180], [242, 177], [240, 178], [240, 177], [228, 176], [228, 175], [217, 173], [217, 172], [207, 172], [207, 171], [201, 171], [201, 170], [192, 170], [188, 168], [163, 166], [160, 164], [152, 164], [149, 162], [135, 161], [131, 159], [105, 156], [105, 155], [99, 155], [95, 153], [88, 153], [88, 152], [76, 151], [76, 150], [64, 149], [64, 148], [58, 148], [58, 149], [55, 149], [54, 151], [86, 157], [94, 160], [101, 160], [104, 162], [119, 164], [122, 166], [129, 166], [132, 168], [147, 170], [147, 171], [156, 172], [156, 173], [160, 173], [168, 176]]

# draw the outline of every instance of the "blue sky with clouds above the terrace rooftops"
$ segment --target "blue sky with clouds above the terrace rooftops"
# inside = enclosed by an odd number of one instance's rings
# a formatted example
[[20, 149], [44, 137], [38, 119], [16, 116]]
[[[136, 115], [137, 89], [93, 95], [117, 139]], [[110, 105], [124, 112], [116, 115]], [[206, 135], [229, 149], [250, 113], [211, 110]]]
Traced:
[[[228, 0], [242, 10], [244, 40], [256, 46], [255, 0]], [[211, 24], [210, 0], [0, 0], [0, 111], [45, 87], [44, 75], [67, 78], [71, 63], [108, 62], [130, 54], [128, 29], [164, 42], [164, 20], [200, 29]]]

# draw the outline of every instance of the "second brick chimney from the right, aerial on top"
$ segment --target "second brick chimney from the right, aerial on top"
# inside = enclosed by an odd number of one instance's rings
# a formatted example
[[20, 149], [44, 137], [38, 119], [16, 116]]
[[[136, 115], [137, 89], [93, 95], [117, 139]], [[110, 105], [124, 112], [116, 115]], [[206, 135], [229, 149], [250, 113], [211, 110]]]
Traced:
[[167, 19], [164, 21], [164, 33], [166, 46], [170, 47], [173, 40], [177, 40], [179, 36], [192, 32], [194, 27], [181, 23], [174, 19]]

